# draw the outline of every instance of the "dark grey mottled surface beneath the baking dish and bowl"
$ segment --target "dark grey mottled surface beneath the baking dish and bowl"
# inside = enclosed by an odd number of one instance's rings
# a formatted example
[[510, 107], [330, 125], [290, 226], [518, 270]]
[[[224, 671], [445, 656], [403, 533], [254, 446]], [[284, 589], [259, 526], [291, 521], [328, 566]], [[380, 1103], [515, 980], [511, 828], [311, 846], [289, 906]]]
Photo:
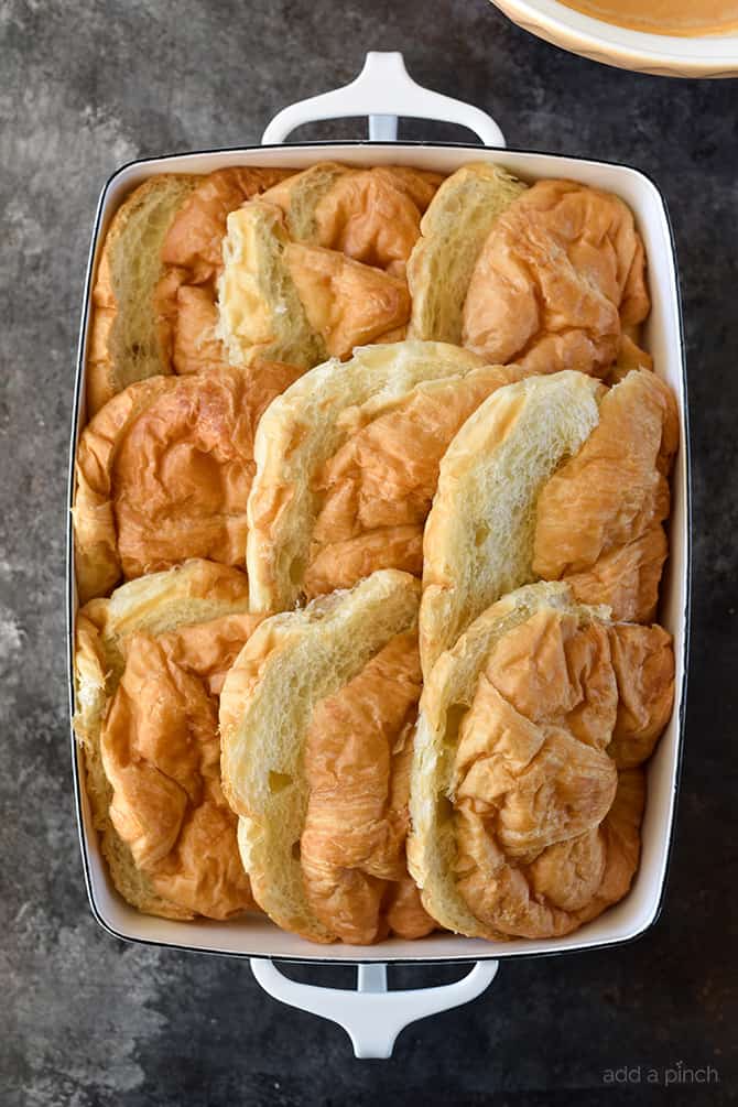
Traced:
[[[711, 1065], [735, 1101], [736, 83], [607, 70], [485, 0], [0, 2], [0, 1101], [593, 1104], [627, 1065]], [[64, 677], [64, 485], [83, 269], [121, 163], [254, 143], [367, 49], [490, 111], [511, 144], [633, 163], [678, 240], [695, 459], [694, 646], [666, 908], [606, 953], [503, 965], [389, 1063], [266, 997], [246, 964], [118, 944], [93, 922], [73, 823]], [[428, 128], [416, 136], [448, 131]], [[357, 135], [345, 124], [312, 135]], [[439, 980], [406, 970], [403, 983]], [[328, 979], [329, 974], [324, 979]], [[661, 1101], [645, 1085], [609, 1104]]]

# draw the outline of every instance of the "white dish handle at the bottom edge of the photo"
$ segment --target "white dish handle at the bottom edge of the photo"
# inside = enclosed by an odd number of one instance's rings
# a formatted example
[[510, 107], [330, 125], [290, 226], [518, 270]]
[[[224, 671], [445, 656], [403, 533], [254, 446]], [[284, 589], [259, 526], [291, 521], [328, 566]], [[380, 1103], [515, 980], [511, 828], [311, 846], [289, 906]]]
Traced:
[[343, 1026], [354, 1056], [383, 1058], [392, 1057], [395, 1038], [405, 1026], [476, 1000], [491, 984], [498, 968], [499, 961], [477, 961], [471, 972], [454, 984], [388, 992], [386, 964], [360, 964], [356, 991], [351, 992], [300, 984], [271, 961], [251, 958], [257, 982], [274, 1000]]

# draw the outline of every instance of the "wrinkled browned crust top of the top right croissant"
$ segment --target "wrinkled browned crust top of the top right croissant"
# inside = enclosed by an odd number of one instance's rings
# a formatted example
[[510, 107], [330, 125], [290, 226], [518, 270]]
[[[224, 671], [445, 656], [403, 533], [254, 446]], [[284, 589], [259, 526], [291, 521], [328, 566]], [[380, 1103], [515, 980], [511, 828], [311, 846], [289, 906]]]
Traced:
[[462, 343], [532, 373], [605, 376], [648, 310], [643, 242], [625, 204], [573, 182], [539, 180], [482, 247]]

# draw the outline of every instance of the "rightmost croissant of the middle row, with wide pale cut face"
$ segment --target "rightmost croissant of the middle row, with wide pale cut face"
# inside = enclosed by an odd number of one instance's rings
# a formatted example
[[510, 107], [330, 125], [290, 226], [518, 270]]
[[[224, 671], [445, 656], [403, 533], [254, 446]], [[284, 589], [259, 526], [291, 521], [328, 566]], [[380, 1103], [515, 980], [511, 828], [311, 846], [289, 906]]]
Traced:
[[667, 554], [674, 396], [636, 370], [607, 390], [563, 371], [498, 389], [446, 451], [424, 534], [424, 672], [481, 611], [537, 579], [648, 622]]

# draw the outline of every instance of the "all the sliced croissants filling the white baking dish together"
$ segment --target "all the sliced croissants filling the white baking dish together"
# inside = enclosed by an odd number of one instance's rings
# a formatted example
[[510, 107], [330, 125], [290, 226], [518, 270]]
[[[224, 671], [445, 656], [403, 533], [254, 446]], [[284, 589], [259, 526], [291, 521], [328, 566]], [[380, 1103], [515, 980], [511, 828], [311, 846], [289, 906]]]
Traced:
[[93, 303], [74, 725], [121, 894], [360, 945], [622, 899], [678, 446], [625, 204], [482, 163], [155, 176]]

